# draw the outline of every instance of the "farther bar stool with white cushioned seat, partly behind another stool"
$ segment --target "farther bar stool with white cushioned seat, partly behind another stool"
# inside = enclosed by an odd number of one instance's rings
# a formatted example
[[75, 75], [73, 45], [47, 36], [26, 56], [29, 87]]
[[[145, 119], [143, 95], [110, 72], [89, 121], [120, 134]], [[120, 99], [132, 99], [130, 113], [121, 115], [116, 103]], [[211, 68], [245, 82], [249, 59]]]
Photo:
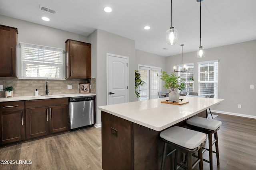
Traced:
[[[220, 164], [219, 157], [219, 148], [218, 148], [218, 133], [217, 131], [220, 129], [221, 121], [206, 119], [203, 117], [192, 117], [186, 121], [186, 123], [191, 127], [191, 129], [195, 131], [199, 131], [202, 133], [208, 134], [209, 139], [209, 149], [203, 147], [203, 152], [205, 150], [209, 151], [209, 160], [203, 159], [205, 162], [210, 163], [210, 170], [212, 170], [212, 153], [216, 153], [217, 164]], [[214, 134], [214, 141], [212, 141], [212, 134]], [[216, 152], [212, 150], [212, 146], [215, 144]]]

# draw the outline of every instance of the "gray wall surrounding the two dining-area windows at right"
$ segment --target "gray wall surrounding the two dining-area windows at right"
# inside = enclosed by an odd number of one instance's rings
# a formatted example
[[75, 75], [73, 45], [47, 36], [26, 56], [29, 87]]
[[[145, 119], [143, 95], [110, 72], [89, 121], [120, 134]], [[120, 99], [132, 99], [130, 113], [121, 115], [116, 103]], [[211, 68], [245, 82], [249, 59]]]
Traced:
[[[183, 54], [183, 63], [194, 63], [194, 91], [198, 91], [197, 62], [219, 60], [218, 98], [225, 100], [211, 110], [256, 118], [255, 47], [256, 40], [206, 49], [206, 57], [201, 59], [196, 52]], [[172, 72], [174, 64], [181, 64], [181, 55], [166, 57], [166, 64], [166, 71]], [[250, 84], [255, 88], [250, 89]], [[241, 109], [238, 104], [242, 104]]]

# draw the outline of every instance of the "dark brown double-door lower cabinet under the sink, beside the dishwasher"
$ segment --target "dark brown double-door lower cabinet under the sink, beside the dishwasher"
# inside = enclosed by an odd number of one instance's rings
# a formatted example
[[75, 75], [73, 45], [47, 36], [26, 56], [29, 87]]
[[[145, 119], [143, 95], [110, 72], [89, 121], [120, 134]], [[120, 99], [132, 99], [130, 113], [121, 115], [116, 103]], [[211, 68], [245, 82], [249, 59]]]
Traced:
[[26, 138], [69, 130], [68, 108], [68, 98], [26, 101]]

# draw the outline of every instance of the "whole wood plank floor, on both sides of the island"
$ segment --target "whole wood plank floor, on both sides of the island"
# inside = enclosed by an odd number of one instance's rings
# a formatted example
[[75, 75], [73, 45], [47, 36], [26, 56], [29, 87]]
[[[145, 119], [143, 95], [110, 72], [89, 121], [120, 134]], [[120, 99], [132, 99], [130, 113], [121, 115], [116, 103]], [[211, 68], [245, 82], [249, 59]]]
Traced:
[[[218, 131], [220, 165], [214, 154], [213, 169], [255, 170], [256, 119], [213, 114], [222, 121]], [[208, 158], [208, 152], [204, 158]], [[0, 164], [1, 170], [101, 170], [101, 159], [101, 128], [95, 127], [0, 148], [0, 160], [15, 161]], [[31, 160], [31, 164], [17, 164], [19, 160]], [[204, 170], [209, 170], [206, 162]]]

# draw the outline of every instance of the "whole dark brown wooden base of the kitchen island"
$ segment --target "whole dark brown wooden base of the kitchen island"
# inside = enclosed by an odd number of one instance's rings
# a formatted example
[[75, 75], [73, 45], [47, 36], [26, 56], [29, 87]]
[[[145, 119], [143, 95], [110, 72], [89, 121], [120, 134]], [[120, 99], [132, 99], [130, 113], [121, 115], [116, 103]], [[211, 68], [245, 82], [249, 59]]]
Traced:
[[[206, 117], [206, 110], [194, 116]], [[174, 126], [187, 127], [186, 120]], [[160, 170], [164, 147], [160, 133], [102, 111], [102, 169]], [[180, 155], [178, 162], [182, 161]], [[173, 168], [173, 163], [174, 155], [168, 156], [165, 169]]]

